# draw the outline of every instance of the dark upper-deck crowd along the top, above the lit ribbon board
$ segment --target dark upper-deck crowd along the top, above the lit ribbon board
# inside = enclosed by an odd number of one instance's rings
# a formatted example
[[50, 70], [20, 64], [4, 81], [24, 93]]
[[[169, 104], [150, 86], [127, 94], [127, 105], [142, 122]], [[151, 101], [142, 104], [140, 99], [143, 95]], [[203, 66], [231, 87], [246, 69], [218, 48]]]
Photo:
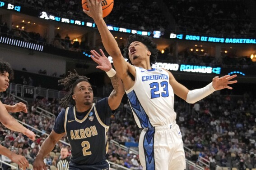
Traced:
[[[15, 0], [14, 0], [15, 1]], [[179, 31], [205, 33], [208, 35], [255, 35], [249, 9], [244, 0], [163, 0], [169, 8]], [[91, 20], [82, 11], [79, 0], [16, 0], [35, 9], [43, 9], [65, 17]], [[168, 28], [169, 20], [163, 17], [163, 9], [156, 0], [115, 1], [115, 10], [106, 17], [109, 23], [129, 26], [140, 30]]]

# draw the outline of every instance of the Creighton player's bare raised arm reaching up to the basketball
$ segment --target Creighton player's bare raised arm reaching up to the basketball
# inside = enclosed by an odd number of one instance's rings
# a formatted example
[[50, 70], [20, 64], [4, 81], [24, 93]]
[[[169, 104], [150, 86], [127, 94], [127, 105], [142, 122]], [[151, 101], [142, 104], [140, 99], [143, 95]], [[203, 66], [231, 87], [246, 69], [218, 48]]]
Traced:
[[102, 38], [102, 43], [107, 50], [107, 53], [113, 58], [115, 69], [123, 80], [122, 76], [127, 72], [128, 63], [126, 63], [125, 59], [123, 58], [114, 36], [108, 30], [107, 25], [102, 18], [102, 0], [88, 0], [87, 2], [89, 10], [84, 10], [84, 13], [92, 17], [96, 23]]

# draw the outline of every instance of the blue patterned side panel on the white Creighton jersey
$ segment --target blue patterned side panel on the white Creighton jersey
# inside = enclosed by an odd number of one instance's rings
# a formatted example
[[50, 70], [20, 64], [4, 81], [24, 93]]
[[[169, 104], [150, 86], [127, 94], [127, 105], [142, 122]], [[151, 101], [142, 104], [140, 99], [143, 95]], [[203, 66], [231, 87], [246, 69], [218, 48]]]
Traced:
[[130, 106], [133, 112], [135, 112], [136, 116], [140, 120], [141, 127], [152, 128], [153, 126], [149, 121], [149, 116], [146, 114], [143, 107], [141, 106], [140, 101], [138, 100], [137, 95], [135, 94], [135, 91], [132, 90], [130, 93], [127, 94], [127, 96], [130, 101]]

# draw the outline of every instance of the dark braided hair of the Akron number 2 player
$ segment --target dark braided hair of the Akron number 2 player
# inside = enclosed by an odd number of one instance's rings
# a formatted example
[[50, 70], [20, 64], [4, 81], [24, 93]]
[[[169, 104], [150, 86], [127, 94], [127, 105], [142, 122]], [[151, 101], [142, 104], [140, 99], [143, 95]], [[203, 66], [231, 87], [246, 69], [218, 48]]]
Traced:
[[70, 91], [68, 92], [68, 94], [66, 94], [64, 96], [64, 98], [61, 98], [60, 104], [61, 107], [68, 107], [69, 104], [71, 105], [75, 105], [75, 100], [72, 98], [72, 95], [74, 94], [74, 88], [75, 86], [82, 82], [82, 81], [86, 81], [90, 84], [90, 82], [88, 81], [89, 78], [86, 76], [79, 76], [78, 73], [76, 72], [76, 70], [74, 70], [73, 72], [69, 72], [70, 74], [68, 76], [66, 76], [64, 79], [59, 80], [59, 85], [63, 85], [65, 89], [70, 89]]

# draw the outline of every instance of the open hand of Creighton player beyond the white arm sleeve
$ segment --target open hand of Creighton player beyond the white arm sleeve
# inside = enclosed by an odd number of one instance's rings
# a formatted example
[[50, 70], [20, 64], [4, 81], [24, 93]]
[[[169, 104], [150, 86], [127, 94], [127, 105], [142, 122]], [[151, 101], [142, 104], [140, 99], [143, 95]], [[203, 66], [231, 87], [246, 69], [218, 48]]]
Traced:
[[231, 79], [235, 78], [237, 75], [226, 75], [226, 76], [216, 76], [213, 78], [213, 82], [212, 85], [214, 87], [215, 90], [220, 90], [220, 89], [233, 89], [232, 87], [230, 87], [229, 85], [237, 83], [237, 81], [230, 81]]

